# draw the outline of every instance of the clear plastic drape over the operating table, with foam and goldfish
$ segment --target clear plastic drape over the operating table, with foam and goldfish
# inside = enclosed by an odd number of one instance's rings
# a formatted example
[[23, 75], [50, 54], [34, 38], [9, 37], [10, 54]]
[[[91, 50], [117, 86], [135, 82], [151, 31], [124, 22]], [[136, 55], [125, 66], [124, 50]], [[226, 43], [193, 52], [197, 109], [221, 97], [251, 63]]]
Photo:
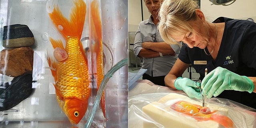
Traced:
[[202, 101], [182, 92], [138, 80], [129, 88], [129, 128], [254, 128], [256, 110], [222, 98], [208, 100], [208, 113], [200, 112]]

